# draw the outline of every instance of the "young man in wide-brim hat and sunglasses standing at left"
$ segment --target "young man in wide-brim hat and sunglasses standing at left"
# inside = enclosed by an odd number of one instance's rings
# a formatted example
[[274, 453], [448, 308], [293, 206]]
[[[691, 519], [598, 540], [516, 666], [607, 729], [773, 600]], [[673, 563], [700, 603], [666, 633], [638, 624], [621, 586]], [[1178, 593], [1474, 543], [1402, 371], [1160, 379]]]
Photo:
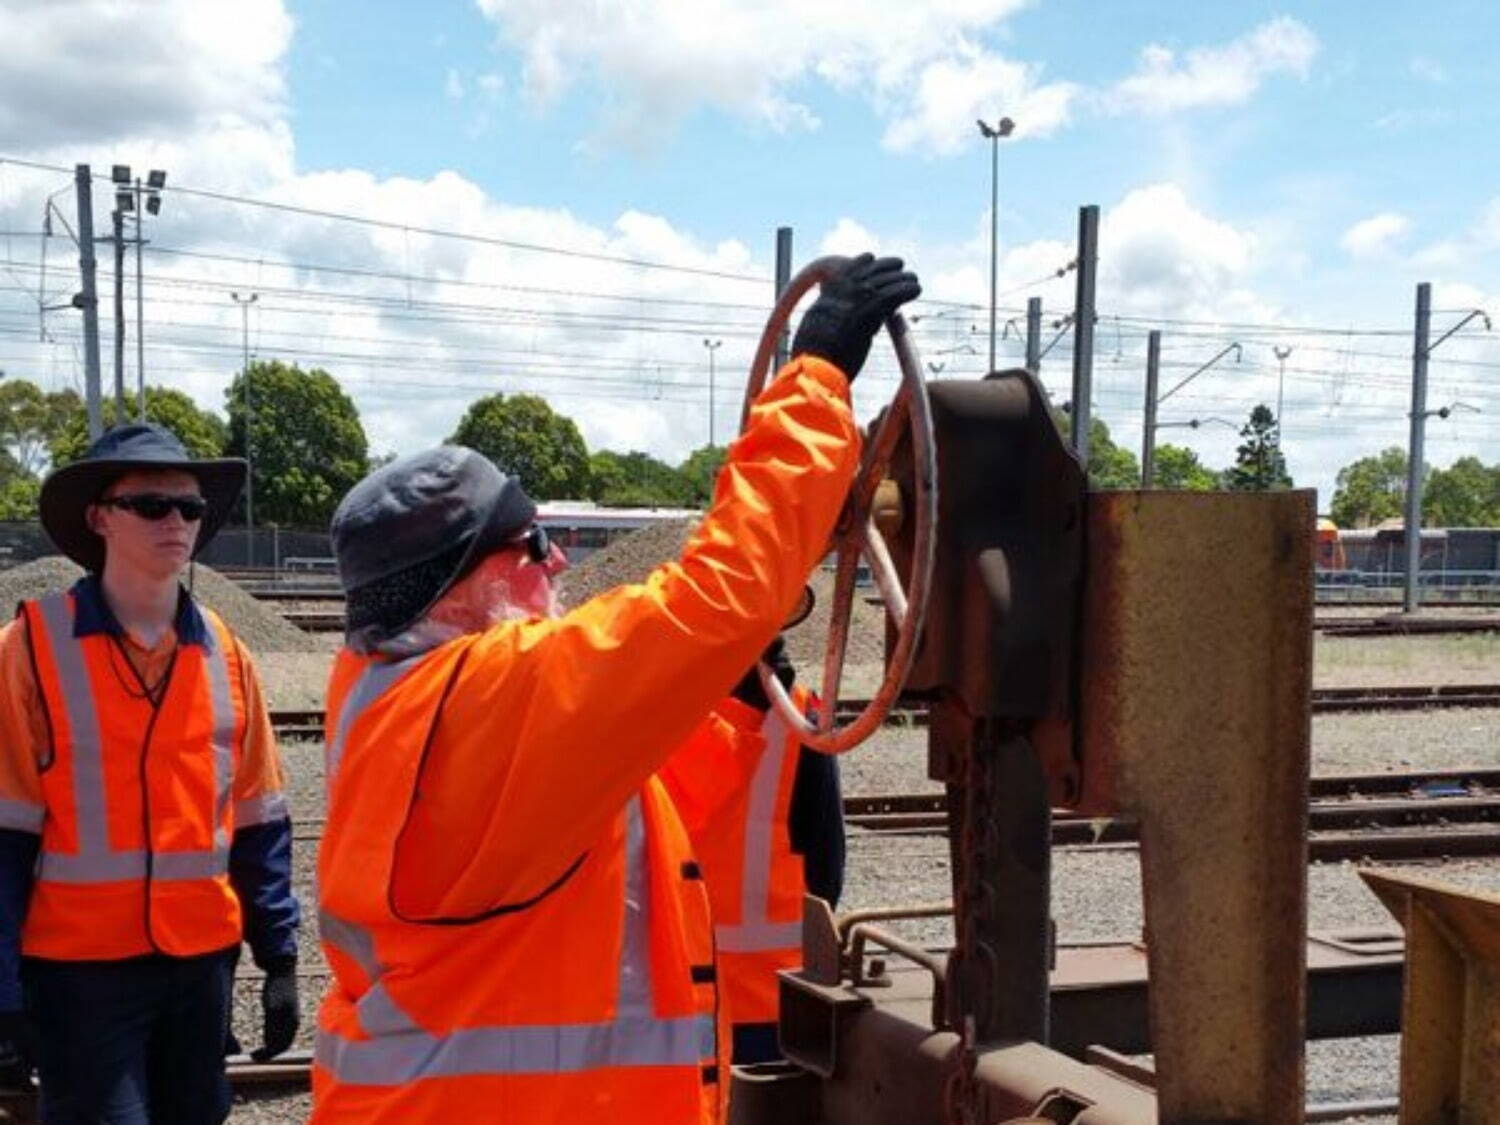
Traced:
[[[242, 939], [297, 1030], [291, 820], [244, 646], [178, 585], [244, 462], [118, 426], [42, 484], [88, 573], [0, 630], [0, 1040], [48, 1125], [213, 1125]], [[22, 1010], [24, 992], [24, 1010]]]

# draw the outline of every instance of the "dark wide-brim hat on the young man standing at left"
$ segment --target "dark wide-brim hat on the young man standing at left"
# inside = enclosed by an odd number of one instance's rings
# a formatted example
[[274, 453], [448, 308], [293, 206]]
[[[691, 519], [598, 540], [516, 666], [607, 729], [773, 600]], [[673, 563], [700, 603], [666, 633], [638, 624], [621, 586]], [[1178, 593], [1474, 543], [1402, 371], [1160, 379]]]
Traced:
[[196, 556], [230, 518], [244, 488], [248, 465], [240, 458], [195, 460], [176, 434], [150, 422], [112, 426], [81, 459], [42, 482], [38, 508], [52, 544], [84, 570], [104, 570], [104, 540], [88, 526], [88, 507], [124, 474], [150, 470], [190, 472], [198, 478], [208, 508], [198, 525], [192, 550]]

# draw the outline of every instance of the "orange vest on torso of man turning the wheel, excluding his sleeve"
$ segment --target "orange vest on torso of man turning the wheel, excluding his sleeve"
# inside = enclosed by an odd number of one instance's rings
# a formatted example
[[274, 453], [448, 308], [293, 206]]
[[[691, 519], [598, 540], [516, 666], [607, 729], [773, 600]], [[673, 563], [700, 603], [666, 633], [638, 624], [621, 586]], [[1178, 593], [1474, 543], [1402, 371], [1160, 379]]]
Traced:
[[398, 663], [345, 650], [334, 664], [318, 856], [334, 987], [314, 1120], [718, 1120], [728, 1036], [708, 896], [656, 778], [538, 900], [448, 924], [398, 915], [402, 826], [474, 640]]

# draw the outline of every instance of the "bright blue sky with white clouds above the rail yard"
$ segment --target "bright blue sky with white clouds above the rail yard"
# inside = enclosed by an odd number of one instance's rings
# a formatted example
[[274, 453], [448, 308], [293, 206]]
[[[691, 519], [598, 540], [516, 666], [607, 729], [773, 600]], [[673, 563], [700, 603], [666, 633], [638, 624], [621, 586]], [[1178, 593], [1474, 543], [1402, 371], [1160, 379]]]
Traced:
[[[974, 120], [1010, 114], [1005, 315], [1028, 296], [1066, 312], [1072, 278], [1054, 273], [1077, 207], [1100, 204], [1098, 414], [1138, 446], [1148, 327], [1166, 333], [1164, 381], [1244, 345], [1166, 422], [1239, 423], [1275, 400], [1272, 348], [1290, 346], [1286, 448], [1326, 507], [1340, 465], [1406, 440], [1414, 284], [1434, 284], [1440, 328], [1500, 314], [1500, 78], [1473, 50], [1500, 42], [1500, 9], [1384, 10], [0, 0], [0, 33], [26, 45], [0, 60], [0, 154], [159, 165], [232, 196], [170, 195], [148, 231], [147, 376], [206, 406], [237, 364], [228, 292], [254, 290], [254, 348], [338, 375], [376, 450], [438, 441], [477, 394], [525, 388], [594, 446], [676, 459], [706, 436], [705, 336], [724, 340], [720, 426], [735, 414], [777, 225], [800, 260], [904, 254], [933, 298], [916, 310], [927, 360], [982, 369]], [[48, 314], [39, 340], [38, 303], [75, 252], [50, 240], [44, 282], [34, 232], [66, 183], [0, 165], [0, 366], [51, 382], [78, 378], [78, 326]], [[1044, 364], [1062, 398], [1070, 346]], [[862, 410], [890, 372], [880, 356]], [[1432, 423], [1434, 464], [1500, 459], [1497, 375], [1478, 322], [1434, 354], [1432, 405], [1482, 411]], [[1234, 444], [1224, 426], [1162, 438], [1214, 465]]]

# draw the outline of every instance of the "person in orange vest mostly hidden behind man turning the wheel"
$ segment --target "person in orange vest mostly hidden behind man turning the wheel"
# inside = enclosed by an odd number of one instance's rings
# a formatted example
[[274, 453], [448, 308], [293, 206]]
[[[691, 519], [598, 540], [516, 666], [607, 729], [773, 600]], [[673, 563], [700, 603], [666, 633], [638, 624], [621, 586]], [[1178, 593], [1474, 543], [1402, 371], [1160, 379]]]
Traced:
[[[792, 702], [813, 716], [780, 638], [764, 656]], [[714, 914], [718, 990], [734, 1028], [734, 1062], [771, 1062], [777, 1044], [777, 974], [802, 964], [802, 898], [838, 904], [844, 832], [838, 759], [801, 744], [752, 668], [717, 712], [740, 729], [736, 760], [693, 740], [660, 777], [687, 826]]]

